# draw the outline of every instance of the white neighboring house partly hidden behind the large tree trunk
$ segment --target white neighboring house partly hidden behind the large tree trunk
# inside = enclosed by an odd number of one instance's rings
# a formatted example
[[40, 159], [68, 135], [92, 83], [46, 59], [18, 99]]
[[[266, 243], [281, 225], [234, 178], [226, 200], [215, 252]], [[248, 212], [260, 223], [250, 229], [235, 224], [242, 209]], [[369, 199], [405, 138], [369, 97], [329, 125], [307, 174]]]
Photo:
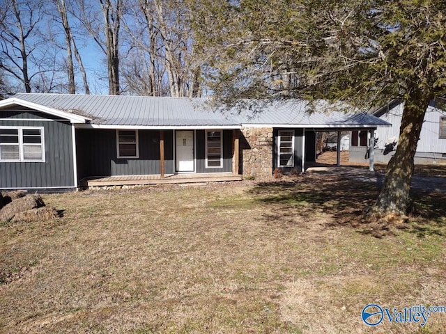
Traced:
[[[431, 101], [426, 109], [420, 140], [415, 153], [415, 163], [446, 163], [446, 111], [440, 108], [440, 102]], [[443, 102], [444, 103], [444, 102]], [[392, 124], [392, 127], [376, 129], [374, 161], [389, 162], [398, 145], [399, 127], [403, 104], [394, 100], [373, 113], [374, 116]], [[361, 130], [351, 132], [349, 161], [367, 162], [370, 133]]]

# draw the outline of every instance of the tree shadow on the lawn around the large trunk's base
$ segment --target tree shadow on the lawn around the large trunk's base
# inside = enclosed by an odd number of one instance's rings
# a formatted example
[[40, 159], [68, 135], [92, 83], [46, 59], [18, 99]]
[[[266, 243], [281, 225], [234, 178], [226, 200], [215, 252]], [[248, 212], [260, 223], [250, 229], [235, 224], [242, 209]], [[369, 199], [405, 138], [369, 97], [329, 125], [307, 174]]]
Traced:
[[279, 205], [264, 218], [275, 225], [295, 224], [293, 216], [304, 220], [328, 214], [327, 228], [348, 226], [365, 234], [384, 237], [395, 229], [409, 230], [420, 237], [444, 234], [446, 230], [446, 194], [413, 195], [407, 223], [371, 220], [367, 211], [374, 205], [379, 187], [374, 182], [352, 180], [345, 175], [304, 175], [276, 182], [262, 182], [251, 190], [257, 200]]

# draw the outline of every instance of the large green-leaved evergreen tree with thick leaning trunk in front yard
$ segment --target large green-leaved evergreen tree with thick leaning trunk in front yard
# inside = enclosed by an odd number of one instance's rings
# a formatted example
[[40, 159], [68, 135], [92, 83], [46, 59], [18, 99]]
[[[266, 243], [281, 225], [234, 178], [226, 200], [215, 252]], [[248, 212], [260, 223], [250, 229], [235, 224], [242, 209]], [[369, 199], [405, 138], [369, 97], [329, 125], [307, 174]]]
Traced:
[[374, 212], [403, 214], [429, 101], [446, 93], [446, 3], [432, 0], [191, 1], [220, 102], [323, 98], [360, 109], [404, 102]]

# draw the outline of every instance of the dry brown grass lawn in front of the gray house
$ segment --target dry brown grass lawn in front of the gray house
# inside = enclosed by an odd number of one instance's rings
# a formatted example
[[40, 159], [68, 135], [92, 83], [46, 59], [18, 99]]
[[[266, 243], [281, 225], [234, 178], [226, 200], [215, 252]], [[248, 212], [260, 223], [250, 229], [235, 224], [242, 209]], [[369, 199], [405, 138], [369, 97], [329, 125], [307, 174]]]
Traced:
[[0, 227], [0, 332], [368, 333], [368, 303], [444, 305], [445, 209], [378, 239], [360, 222], [376, 191], [308, 175], [44, 196], [63, 218]]

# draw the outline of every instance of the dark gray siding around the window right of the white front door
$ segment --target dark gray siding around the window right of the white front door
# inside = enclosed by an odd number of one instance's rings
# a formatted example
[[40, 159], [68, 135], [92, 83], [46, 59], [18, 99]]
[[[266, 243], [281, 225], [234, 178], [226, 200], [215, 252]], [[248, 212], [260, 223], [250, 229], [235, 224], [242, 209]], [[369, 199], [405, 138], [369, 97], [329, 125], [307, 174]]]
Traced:
[[206, 168], [206, 132], [197, 130], [197, 173], [232, 172], [232, 130], [223, 130], [222, 168]]

